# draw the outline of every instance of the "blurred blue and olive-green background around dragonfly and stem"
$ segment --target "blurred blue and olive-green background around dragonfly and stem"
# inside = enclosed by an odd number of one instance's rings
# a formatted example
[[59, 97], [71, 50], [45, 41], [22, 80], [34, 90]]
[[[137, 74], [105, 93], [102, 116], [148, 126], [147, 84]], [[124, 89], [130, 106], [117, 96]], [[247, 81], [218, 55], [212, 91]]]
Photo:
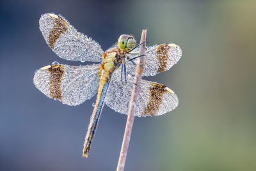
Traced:
[[179, 106], [135, 118], [125, 170], [256, 170], [256, 1], [0, 1], [0, 170], [116, 170], [126, 115], [104, 107], [82, 158], [92, 100], [69, 107], [33, 85], [38, 68], [65, 61], [38, 20], [63, 15], [106, 50], [120, 34], [183, 50], [168, 85]]

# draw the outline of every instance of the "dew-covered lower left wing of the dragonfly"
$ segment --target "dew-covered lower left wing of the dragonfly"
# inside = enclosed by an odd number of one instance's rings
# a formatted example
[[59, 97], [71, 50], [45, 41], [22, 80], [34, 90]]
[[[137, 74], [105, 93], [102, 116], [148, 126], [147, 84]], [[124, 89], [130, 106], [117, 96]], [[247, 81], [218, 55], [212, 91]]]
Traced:
[[92, 98], [99, 87], [99, 64], [68, 66], [51, 64], [35, 72], [33, 82], [49, 98], [79, 105]]

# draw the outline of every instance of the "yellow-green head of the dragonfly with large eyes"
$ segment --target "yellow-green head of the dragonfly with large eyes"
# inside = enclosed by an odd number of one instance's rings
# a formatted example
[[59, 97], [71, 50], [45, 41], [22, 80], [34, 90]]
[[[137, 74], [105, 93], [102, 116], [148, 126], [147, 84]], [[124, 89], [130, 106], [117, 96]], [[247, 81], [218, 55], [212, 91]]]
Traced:
[[127, 34], [122, 34], [117, 41], [117, 45], [119, 48], [124, 50], [124, 52], [131, 50], [136, 45], [136, 40], [133, 36], [129, 36]]

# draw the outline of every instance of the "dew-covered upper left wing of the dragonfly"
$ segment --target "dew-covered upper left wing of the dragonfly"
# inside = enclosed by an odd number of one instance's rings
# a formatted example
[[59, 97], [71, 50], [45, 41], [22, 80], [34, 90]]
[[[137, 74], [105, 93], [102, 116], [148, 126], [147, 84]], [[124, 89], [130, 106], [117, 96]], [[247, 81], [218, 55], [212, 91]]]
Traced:
[[99, 43], [79, 33], [61, 15], [45, 13], [39, 25], [47, 44], [61, 58], [81, 62], [102, 60], [103, 50]]

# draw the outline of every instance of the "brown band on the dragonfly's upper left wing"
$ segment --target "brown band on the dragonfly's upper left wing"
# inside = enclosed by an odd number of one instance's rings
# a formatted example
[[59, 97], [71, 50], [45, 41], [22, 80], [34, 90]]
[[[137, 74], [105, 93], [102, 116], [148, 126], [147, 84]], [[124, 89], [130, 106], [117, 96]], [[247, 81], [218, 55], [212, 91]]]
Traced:
[[54, 43], [60, 38], [61, 34], [65, 33], [65, 31], [68, 30], [68, 24], [65, 20], [63, 20], [60, 16], [58, 18], [54, 18], [54, 26], [49, 33], [49, 38], [48, 38], [48, 45], [52, 49], [54, 48]]

